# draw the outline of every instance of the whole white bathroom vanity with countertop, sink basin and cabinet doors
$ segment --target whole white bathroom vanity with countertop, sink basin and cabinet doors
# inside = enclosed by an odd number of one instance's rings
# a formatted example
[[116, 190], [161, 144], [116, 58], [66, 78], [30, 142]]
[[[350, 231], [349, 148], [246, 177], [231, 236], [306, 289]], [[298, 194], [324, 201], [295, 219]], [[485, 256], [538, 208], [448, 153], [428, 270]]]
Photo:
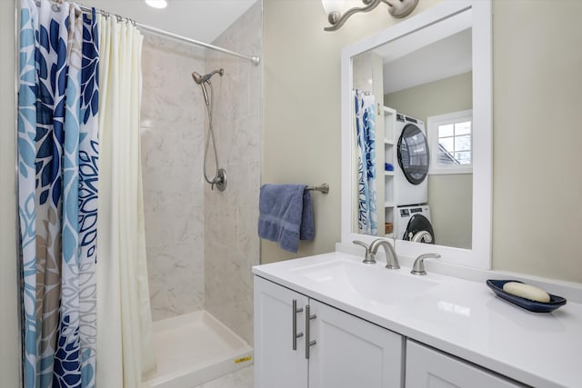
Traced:
[[[564, 287], [574, 299], [565, 308], [540, 314], [481, 282], [386, 270], [342, 252], [253, 274], [257, 387], [582, 387], [577, 289]], [[307, 305], [315, 319], [306, 320]], [[316, 341], [308, 360], [307, 328]]]

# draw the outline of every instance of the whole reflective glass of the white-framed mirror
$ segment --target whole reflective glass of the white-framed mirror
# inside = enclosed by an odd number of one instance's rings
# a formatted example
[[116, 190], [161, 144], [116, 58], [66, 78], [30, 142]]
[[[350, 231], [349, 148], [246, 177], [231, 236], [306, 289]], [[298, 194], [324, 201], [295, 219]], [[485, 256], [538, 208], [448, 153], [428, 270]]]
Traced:
[[471, 249], [471, 10], [352, 58], [352, 231]]

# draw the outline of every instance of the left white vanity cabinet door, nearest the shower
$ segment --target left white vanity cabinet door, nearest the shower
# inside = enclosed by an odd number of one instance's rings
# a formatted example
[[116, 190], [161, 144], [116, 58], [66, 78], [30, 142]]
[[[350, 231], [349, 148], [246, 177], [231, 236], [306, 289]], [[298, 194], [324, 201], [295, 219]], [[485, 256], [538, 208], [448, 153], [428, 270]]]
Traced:
[[296, 333], [305, 333], [307, 297], [255, 276], [255, 387], [307, 388], [305, 334], [293, 350], [293, 301]]

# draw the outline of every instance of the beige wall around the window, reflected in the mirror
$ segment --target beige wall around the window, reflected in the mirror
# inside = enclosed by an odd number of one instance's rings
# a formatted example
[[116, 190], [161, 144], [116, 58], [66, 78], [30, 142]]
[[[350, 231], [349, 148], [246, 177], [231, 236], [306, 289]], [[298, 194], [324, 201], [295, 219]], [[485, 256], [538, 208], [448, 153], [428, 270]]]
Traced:
[[[384, 95], [384, 104], [427, 125], [429, 116], [471, 109], [471, 82], [471, 73], [456, 75]], [[472, 197], [473, 174], [428, 176], [428, 204], [437, 244], [471, 247]]]

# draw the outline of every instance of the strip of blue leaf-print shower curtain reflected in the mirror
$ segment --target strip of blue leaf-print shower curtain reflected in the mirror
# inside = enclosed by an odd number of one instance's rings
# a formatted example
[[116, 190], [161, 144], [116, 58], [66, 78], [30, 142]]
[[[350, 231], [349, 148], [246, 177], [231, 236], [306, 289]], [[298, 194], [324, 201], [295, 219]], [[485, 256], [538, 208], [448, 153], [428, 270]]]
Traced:
[[355, 90], [357, 137], [357, 229], [377, 234], [376, 214], [376, 110], [374, 95]]

